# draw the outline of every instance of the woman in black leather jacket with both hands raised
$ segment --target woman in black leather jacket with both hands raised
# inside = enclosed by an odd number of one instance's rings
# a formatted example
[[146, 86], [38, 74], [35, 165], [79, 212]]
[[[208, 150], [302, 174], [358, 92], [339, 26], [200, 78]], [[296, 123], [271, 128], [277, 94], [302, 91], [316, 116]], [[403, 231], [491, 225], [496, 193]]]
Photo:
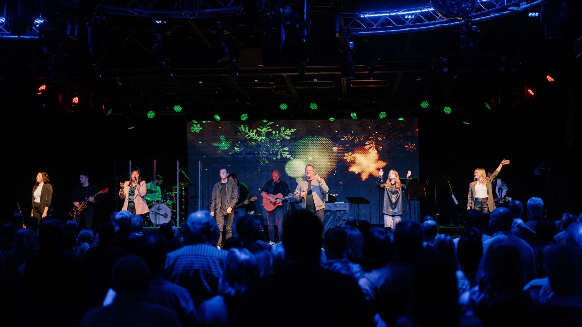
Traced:
[[404, 191], [408, 189], [409, 177], [412, 175], [410, 170], [406, 173], [406, 184], [400, 183], [400, 176], [394, 169], [388, 171], [388, 179], [384, 182], [384, 172], [380, 169], [376, 187], [384, 190], [384, 205], [382, 206], [382, 213], [384, 213], [384, 227], [394, 229], [397, 223], [402, 221], [402, 214], [404, 213]]

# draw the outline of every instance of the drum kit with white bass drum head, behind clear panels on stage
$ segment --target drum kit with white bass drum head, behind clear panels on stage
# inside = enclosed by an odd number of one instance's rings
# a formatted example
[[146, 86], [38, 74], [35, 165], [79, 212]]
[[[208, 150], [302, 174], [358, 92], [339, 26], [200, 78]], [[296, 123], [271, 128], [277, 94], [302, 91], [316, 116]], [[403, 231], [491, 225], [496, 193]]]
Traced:
[[[150, 221], [153, 226], [159, 226], [162, 225], [162, 223], [171, 223], [172, 225], [177, 226], [178, 217], [176, 211], [179, 207], [180, 216], [184, 215], [184, 199], [186, 198], [187, 186], [188, 184], [172, 186], [171, 192], [162, 191], [161, 194], [155, 194], [155, 189], [147, 189], [148, 196], [145, 196], [144, 199], [147, 200], [149, 204], [148, 207], [150, 208], [150, 213], [149, 217], [144, 217], [145, 222]], [[178, 194], [180, 194], [179, 202]]]

